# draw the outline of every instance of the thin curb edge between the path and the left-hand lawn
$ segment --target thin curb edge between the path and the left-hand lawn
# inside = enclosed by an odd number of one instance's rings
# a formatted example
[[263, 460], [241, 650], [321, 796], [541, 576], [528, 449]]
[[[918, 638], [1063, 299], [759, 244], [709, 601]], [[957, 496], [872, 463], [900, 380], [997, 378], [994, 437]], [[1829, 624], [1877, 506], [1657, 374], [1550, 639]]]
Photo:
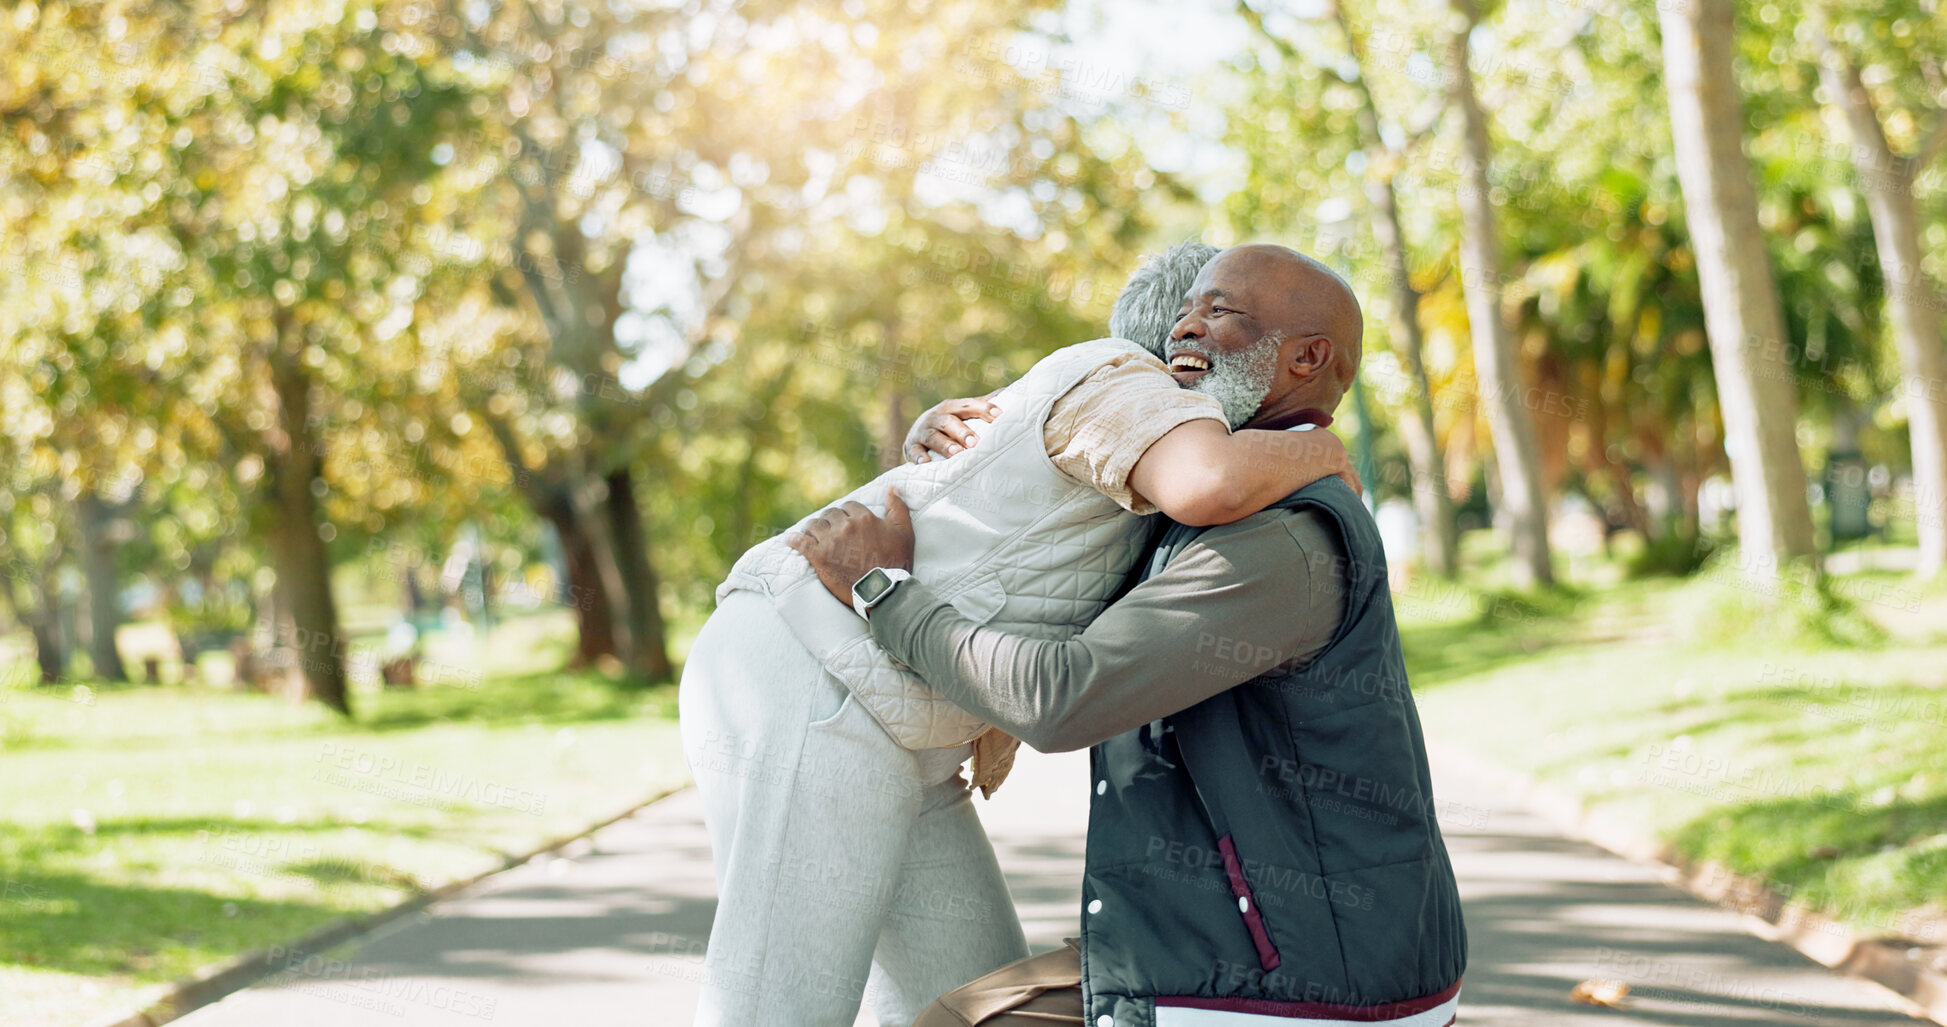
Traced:
[[481, 881], [487, 881], [489, 877], [506, 873], [514, 867], [528, 865], [541, 856], [569, 848], [574, 842], [580, 842], [609, 824], [619, 824], [621, 820], [627, 820], [629, 817], [635, 817], [637, 813], [643, 813], [644, 809], [672, 795], [680, 795], [687, 787], [689, 785], [685, 783], [672, 787], [668, 791], [658, 791], [656, 795], [650, 795], [648, 799], [643, 799], [641, 803], [635, 803], [623, 809], [621, 813], [604, 817], [602, 820], [574, 834], [541, 842], [539, 846], [528, 852], [498, 854], [500, 856], [498, 865], [487, 867], [471, 877], [448, 881], [430, 891], [415, 893], [395, 906], [376, 912], [345, 916], [292, 941], [271, 945], [265, 949], [251, 949], [222, 963], [202, 967], [201, 970], [171, 984], [164, 996], [142, 1006], [140, 1009], [127, 1013], [107, 1013], [101, 1019], [90, 1021], [88, 1027], [162, 1027], [171, 1019], [185, 1017], [204, 1006], [214, 1004], [220, 998], [228, 998], [234, 992], [241, 992], [243, 988], [249, 988], [251, 984], [271, 976], [273, 972], [276, 972], [278, 965], [282, 965], [294, 953], [317, 953], [343, 945], [362, 933], [370, 933], [378, 928], [384, 928], [386, 924], [391, 924], [401, 916], [419, 912], [444, 898], [452, 898], [454, 894], [459, 894], [461, 891], [467, 891], [479, 885]]

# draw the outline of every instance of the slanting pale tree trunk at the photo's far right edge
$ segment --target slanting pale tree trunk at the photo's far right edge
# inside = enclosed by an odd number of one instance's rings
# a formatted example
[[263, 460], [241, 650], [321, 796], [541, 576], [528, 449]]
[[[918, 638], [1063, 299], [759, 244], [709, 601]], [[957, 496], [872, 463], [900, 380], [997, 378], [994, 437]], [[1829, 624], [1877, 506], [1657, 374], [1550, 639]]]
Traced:
[[1918, 573], [1933, 577], [1947, 567], [1947, 347], [1941, 345], [1941, 294], [1920, 265], [1920, 214], [1914, 209], [1914, 175], [1931, 154], [1926, 144], [1920, 160], [1892, 152], [1873, 97], [1859, 80], [1859, 68], [1830, 45], [1820, 74], [1852, 127], [1859, 189], [1873, 216], [1873, 244], [1887, 279], [1887, 312], [1900, 349], [1906, 433], [1914, 448]]

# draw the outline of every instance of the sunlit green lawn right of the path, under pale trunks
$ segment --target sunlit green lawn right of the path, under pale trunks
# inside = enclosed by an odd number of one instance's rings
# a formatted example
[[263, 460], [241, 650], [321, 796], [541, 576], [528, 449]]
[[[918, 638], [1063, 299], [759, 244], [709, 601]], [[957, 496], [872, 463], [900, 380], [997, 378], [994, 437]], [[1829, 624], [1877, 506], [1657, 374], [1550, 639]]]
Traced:
[[1402, 594], [1429, 737], [1863, 932], [1941, 943], [1947, 590], [1848, 575], [1817, 612], [1717, 567], [1591, 577], [1532, 600]]

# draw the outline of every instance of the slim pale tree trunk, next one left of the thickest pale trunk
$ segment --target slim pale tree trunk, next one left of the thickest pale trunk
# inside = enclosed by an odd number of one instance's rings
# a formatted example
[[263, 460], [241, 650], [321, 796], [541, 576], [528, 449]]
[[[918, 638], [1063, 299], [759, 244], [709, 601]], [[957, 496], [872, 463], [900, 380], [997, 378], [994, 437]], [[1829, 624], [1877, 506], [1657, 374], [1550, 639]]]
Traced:
[[1542, 495], [1540, 446], [1534, 419], [1523, 403], [1515, 337], [1501, 320], [1501, 238], [1488, 195], [1488, 115], [1474, 95], [1468, 35], [1478, 19], [1474, 0], [1451, 0], [1454, 29], [1447, 41], [1451, 101], [1460, 111], [1466, 179], [1460, 185], [1460, 277], [1474, 335], [1474, 378], [1488, 403], [1493, 456], [1501, 479], [1501, 511], [1513, 534], [1515, 579], [1525, 587], [1552, 585], [1548, 505]]

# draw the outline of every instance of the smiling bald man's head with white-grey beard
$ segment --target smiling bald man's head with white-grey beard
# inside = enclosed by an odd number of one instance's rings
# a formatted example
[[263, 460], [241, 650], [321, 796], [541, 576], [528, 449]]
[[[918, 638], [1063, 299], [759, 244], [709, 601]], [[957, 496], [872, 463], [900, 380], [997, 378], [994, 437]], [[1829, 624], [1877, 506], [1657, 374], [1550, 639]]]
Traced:
[[1248, 244], [1197, 275], [1168, 357], [1176, 380], [1225, 401], [1236, 427], [1336, 407], [1359, 372], [1363, 337], [1345, 279], [1287, 246]]

